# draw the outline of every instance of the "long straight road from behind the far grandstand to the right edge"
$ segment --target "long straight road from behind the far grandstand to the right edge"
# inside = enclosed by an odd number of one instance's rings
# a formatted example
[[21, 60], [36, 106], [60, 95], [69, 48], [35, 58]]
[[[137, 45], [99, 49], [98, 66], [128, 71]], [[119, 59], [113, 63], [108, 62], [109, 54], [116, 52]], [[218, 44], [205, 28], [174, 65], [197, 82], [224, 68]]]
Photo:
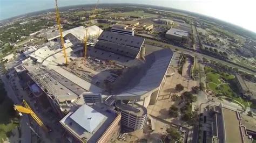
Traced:
[[[190, 49], [185, 49], [183, 47], [178, 47], [178, 46], [174, 46], [174, 45], [171, 45], [171, 44], [167, 44], [167, 43], [164, 43], [164, 42], [160, 42], [160, 41], [155, 41], [155, 40], [151, 40], [151, 39], [146, 39], [146, 41], [151, 41], [151, 42], [158, 42], [159, 45], [168, 45], [168, 46], [171, 46], [171, 49], [172, 50], [175, 50], [175, 49], [178, 49], [178, 51], [184, 53], [184, 54], [189, 54], [189, 55], [193, 55], [193, 56], [197, 56], [198, 58], [206, 58], [208, 60], [212, 60], [212, 61], [217, 61], [217, 62], [220, 62], [224, 65], [227, 65], [227, 66], [230, 66], [230, 67], [234, 67], [234, 68], [238, 68], [239, 70], [241, 71], [244, 71], [246, 73], [250, 73], [250, 74], [253, 74], [255, 75], [256, 73], [254, 71], [251, 71], [251, 70], [248, 70], [248, 69], [245, 69], [243, 67], [240, 67], [240, 66], [237, 66], [237, 65], [234, 65], [232, 63], [229, 63], [229, 62], [226, 62], [226, 61], [223, 61], [223, 60], [220, 60], [220, 59], [217, 59], [217, 58], [213, 58], [212, 56], [208, 56], [208, 55], [205, 55], [205, 54], [202, 54], [202, 53], [198, 53], [198, 52], [194, 52]], [[149, 45], [149, 44], [145, 44], [146, 45]]]

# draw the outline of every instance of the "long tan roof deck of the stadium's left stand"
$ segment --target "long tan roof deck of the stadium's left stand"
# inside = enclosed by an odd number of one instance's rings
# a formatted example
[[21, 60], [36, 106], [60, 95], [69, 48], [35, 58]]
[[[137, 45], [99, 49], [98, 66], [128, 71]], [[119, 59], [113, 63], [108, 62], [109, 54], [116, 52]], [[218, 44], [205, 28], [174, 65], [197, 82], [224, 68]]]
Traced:
[[59, 102], [76, 100], [85, 89], [52, 69], [36, 66], [24, 66], [30, 77], [52, 98]]

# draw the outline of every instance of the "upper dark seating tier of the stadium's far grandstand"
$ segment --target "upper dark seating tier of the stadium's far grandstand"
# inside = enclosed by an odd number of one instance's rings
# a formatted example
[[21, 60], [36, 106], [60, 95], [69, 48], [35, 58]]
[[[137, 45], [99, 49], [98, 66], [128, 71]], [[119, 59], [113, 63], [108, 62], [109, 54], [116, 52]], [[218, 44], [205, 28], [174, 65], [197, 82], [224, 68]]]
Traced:
[[120, 45], [126, 45], [131, 46], [135, 48], [142, 47], [144, 43], [144, 38], [131, 36], [131, 35], [121, 35], [112, 33], [109, 31], [103, 31], [102, 34], [100, 34], [99, 40], [109, 41]]

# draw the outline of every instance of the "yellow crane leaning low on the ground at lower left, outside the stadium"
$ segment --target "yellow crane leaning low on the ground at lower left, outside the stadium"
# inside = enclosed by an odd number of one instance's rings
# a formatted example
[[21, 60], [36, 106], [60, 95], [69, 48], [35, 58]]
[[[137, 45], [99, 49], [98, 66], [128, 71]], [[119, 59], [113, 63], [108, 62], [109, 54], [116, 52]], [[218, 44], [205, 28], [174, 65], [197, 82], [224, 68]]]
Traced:
[[29, 114], [36, 123], [43, 128], [45, 132], [49, 132], [48, 128], [44, 125], [43, 121], [39, 119], [39, 117], [33, 112], [33, 110], [30, 108], [29, 104], [26, 103], [25, 100], [23, 100], [24, 106], [21, 105], [14, 105], [14, 109], [19, 112], [19, 115], [22, 115], [22, 113]]

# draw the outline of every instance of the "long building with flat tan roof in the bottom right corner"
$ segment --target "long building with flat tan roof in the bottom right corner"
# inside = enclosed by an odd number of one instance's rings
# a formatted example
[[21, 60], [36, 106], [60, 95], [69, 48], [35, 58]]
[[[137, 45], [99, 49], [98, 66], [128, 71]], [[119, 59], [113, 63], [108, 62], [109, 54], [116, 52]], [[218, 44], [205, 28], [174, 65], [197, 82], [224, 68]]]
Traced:
[[252, 135], [247, 133], [238, 111], [227, 109], [222, 104], [208, 105], [201, 117], [203, 117], [203, 120], [200, 120], [200, 129], [203, 130], [202, 142], [253, 142]]

